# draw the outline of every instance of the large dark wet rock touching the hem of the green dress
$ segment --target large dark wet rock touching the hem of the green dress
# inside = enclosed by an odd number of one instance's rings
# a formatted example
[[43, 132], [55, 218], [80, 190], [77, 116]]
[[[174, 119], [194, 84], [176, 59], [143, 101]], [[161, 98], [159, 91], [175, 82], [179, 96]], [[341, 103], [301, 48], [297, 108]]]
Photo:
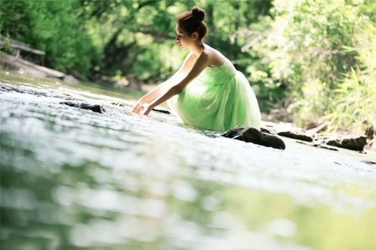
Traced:
[[272, 147], [274, 149], [285, 149], [285, 143], [275, 135], [268, 135], [267, 133], [260, 132], [256, 128], [236, 126], [230, 128], [228, 131], [221, 134], [226, 138], [235, 140], [242, 140], [244, 142], [252, 142], [265, 147]]

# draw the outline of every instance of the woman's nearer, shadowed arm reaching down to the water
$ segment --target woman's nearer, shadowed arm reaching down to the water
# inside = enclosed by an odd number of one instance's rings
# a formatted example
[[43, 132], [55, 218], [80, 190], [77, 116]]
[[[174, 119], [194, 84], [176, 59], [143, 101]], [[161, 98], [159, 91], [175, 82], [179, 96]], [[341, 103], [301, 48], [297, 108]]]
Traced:
[[182, 79], [178, 84], [175, 84], [167, 90], [164, 94], [159, 96], [155, 101], [152, 101], [148, 108], [146, 109], [145, 113], [143, 115], [148, 115], [152, 108], [155, 106], [158, 106], [160, 103], [163, 103], [164, 101], [167, 101], [171, 97], [173, 97], [175, 94], [179, 94], [182, 92], [182, 90], [187, 87], [188, 83], [190, 83], [196, 76], [198, 76], [205, 67], [209, 65], [209, 56], [207, 53], [203, 52], [201, 55], [197, 58], [196, 63], [194, 63], [194, 66], [192, 67], [191, 71], [187, 74], [187, 76]]

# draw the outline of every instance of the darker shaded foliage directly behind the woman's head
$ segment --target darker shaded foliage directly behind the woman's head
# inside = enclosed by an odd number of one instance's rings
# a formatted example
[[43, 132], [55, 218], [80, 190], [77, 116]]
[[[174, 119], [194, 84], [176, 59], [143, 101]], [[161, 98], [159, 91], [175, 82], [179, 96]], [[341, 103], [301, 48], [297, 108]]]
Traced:
[[[244, 73], [258, 61], [242, 51], [243, 33], [269, 14], [270, 1], [82, 1], [88, 30], [104, 54], [101, 72], [155, 83], [171, 76], [187, 51], [175, 43], [175, 17], [198, 5], [207, 13], [206, 41]], [[266, 26], [263, 26], [265, 28]], [[231, 39], [233, 37], [233, 40]], [[173, 55], [174, 58], [171, 58]], [[118, 58], [118, 60], [116, 59]], [[178, 59], [178, 60], [176, 60]], [[146, 70], [147, 69], [147, 70]]]

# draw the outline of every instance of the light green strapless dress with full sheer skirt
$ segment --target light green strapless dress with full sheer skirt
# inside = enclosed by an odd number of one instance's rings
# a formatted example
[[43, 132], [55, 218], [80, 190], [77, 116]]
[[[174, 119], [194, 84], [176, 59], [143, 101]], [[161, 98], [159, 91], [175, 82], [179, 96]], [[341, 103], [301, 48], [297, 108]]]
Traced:
[[251, 85], [227, 58], [217, 67], [205, 67], [167, 104], [183, 122], [200, 128], [226, 131], [240, 125], [260, 130], [260, 109]]

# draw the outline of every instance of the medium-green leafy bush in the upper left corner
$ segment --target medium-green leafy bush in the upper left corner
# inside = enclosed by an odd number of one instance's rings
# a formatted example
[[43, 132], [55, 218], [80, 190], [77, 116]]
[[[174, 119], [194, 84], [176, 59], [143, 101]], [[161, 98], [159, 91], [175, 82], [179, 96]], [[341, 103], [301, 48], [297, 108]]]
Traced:
[[45, 65], [86, 74], [100, 60], [84, 30], [79, 1], [1, 1], [0, 32], [46, 51]]

